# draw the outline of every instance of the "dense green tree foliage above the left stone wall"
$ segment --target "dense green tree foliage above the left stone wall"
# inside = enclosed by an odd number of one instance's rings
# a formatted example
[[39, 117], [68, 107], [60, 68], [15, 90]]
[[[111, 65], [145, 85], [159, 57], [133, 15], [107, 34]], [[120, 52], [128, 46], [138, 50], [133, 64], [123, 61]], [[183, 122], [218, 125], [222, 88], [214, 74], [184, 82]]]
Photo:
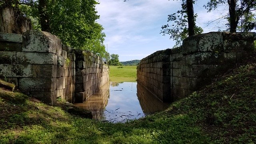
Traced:
[[96, 22], [100, 17], [96, 0], [10, 0], [0, 4], [18, 7], [35, 30], [55, 34], [66, 45], [106, 55], [104, 28]]

